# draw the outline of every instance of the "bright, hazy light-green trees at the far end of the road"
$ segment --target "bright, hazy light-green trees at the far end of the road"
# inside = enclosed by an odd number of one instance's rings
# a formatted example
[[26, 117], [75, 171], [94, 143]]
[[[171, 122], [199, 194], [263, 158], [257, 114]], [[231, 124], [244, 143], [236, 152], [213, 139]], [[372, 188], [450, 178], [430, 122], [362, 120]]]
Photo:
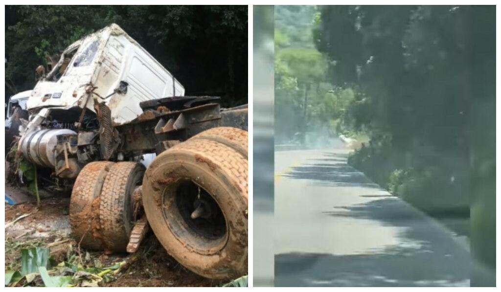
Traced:
[[[326, 145], [337, 133], [365, 139], [354, 131], [346, 109], [354, 87], [329, 76], [329, 60], [315, 46], [320, 22], [315, 6], [275, 7], [275, 141]], [[337, 136], [336, 136], [337, 137]]]

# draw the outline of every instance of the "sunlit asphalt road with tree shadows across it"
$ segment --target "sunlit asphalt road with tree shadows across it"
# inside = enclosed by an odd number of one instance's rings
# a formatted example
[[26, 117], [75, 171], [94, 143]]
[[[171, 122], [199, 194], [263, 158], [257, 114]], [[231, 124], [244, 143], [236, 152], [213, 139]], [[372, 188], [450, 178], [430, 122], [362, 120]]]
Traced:
[[469, 286], [467, 247], [347, 155], [275, 152], [275, 286]]

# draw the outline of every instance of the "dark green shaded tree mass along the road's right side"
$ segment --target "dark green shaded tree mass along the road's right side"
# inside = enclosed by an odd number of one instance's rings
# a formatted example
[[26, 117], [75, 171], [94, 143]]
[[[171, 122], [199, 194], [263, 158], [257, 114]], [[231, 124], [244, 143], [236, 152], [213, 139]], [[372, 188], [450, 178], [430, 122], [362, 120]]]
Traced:
[[467, 209], [472, 252], [495, 268], [495, 7], [319, 13], [329, 81], [363, 96], [346, 112], [371, 144], [350, 163], [424, 210]]

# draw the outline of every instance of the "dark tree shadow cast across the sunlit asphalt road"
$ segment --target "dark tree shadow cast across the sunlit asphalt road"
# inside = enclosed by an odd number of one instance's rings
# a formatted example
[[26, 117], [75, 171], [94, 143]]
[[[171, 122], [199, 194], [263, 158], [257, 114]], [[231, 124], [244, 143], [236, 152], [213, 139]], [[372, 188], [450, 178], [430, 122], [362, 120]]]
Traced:
[[[330, 153], [324, 154], [329, 157]], [[286, 176], [325, 186], [381, 188], [346, 164], [340, 155], [294, 168]], [[397, 227], [400, 244], [366, 254], [291, 252], [275, 255], [276, 286], [468, 286], [469, 252], [436, 221], [388, 195], [366, 203], [335, 207], [326, 216], [378, 221]], [[347, 226], [346, 228], [349, 228]], [[353, 230], [357, 232], [357, 230]], [[314, 240], [314, 239], [312, 239]]]

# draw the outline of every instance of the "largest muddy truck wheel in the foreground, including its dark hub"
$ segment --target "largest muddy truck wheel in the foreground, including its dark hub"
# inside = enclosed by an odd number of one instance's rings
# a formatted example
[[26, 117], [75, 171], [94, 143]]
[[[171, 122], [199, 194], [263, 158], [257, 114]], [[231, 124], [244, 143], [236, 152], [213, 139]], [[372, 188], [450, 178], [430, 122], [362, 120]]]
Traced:
[[158, 155], [142, 200], [156, 237], [179, 263], [208, 278], [247, 273], [247, 159], [192, 138]]

